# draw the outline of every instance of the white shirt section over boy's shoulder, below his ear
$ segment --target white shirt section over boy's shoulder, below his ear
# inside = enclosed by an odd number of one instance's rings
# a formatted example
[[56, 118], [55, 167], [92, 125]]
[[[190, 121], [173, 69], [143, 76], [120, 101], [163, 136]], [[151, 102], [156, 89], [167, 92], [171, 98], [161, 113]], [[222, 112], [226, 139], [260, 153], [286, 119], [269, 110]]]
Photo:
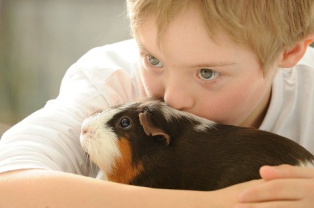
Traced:
[[260, 129], [296, 141], [314, 154], [314, 48], [297, 65], [280, 69]]

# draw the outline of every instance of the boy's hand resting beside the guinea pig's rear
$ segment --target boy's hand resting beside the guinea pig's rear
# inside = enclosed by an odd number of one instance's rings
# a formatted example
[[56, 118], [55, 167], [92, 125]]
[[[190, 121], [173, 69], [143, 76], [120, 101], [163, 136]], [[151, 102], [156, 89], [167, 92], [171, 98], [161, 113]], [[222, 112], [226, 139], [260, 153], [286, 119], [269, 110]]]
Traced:
[[314, 168], [263, 166], [264, 183], [239, 195], [237, 208], [314, 207]]

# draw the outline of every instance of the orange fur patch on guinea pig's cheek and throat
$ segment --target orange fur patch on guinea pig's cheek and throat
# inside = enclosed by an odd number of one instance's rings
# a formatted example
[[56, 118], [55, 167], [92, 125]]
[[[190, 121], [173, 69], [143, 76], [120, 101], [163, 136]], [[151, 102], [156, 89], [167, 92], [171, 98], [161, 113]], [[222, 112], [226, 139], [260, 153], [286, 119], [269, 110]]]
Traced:
[[140, 174], [143, 166], [142, 164], [138, 164], [136, 167], [133, 166], [130, 144], [126, 138], [119, 140], [118, 147], [121, 151], [121, 157], [114, 161], [112, 175], [107, 175], [107, 177], [112, 182], [129, 184], [133, 178]]

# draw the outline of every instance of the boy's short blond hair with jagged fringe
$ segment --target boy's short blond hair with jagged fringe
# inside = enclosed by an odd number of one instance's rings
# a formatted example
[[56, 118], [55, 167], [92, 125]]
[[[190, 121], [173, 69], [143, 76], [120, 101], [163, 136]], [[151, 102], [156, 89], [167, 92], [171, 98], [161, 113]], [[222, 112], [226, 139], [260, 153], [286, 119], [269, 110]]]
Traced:
[[171, 20], [190, 6], [200, 11], [213, 40], [215, 31], [224, 31], [235, 43], [251, 49], [264, 70], [285, 49], [314, 33], [313, 0], [127, 0], [134, 37], [138, 38], [142, 22], [154, 15], [159, 45]]

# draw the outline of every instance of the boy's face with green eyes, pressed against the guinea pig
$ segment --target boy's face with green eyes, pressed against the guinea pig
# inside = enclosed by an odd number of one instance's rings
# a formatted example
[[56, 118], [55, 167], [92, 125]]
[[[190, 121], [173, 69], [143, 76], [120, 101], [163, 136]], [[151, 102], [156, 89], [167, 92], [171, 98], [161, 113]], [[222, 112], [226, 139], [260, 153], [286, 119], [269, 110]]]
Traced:
[[156, 43], [154, 17], [140, 26], [141, 77], [148, 95], [209, 120], [258, 127], [271, 92], [253, 52], [235, 45], [223, 33], [218, 44], [197, 12], [190, 9], [172, 20], [162, 49]]

